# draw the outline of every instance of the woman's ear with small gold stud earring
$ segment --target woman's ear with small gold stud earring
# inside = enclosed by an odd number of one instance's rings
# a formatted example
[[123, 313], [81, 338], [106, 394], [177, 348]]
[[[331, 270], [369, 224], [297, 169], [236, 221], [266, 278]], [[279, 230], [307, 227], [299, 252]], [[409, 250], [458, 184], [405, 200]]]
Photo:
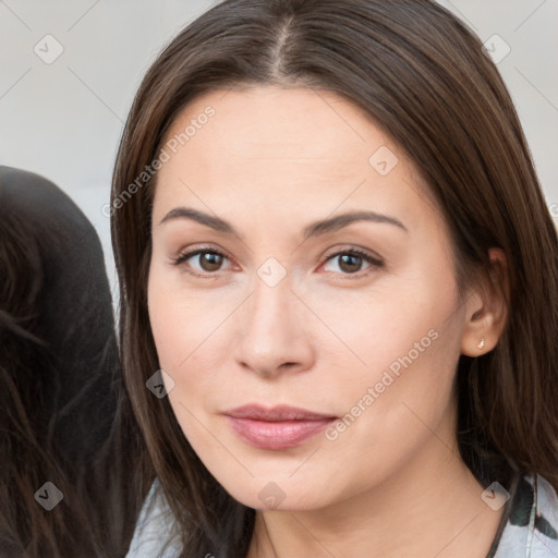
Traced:
[[488, 255], [489, 270], [470, 291], [465, 303], [461, 352], [468, 356], [480, 356], [492, 351], [508, 318], [510, 288], [506, 255], [496, 247], [490, 248]]

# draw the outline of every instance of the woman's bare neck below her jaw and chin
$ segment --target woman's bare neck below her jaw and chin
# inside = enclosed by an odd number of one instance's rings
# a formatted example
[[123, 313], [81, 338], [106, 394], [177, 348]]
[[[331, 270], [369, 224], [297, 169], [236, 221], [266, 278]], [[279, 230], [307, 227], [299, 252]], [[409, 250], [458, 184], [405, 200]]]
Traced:
[[504, 508], [488, 508], [483, 489], [457, 441], [432, 436], [412, 463], [343, 501], [258, 511], [246, 558], [485, 558]]

